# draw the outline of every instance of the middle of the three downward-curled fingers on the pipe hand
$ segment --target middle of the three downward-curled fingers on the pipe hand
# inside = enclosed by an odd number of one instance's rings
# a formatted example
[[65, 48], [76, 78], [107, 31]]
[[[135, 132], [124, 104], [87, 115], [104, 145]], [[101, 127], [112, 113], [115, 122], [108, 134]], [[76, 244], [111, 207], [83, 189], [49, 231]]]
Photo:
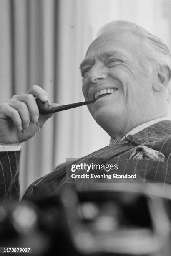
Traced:
[[27, 129], [30, 123], [30, 114], [27, 105], [18, 100], [7, 100], [6, 103], [18, 111], [22, 120], [22, 127], [23, 129]]

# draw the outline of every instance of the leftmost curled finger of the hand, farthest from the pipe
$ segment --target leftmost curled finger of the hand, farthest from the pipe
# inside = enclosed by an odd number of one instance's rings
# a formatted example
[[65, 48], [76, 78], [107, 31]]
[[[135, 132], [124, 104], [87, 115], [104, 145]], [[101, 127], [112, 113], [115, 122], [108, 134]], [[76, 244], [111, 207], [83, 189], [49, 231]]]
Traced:
[[15, 108], [12, 108], [7, 103], [3, 103], [1, 105], [1, 118], [11, 118], [15, 125], [17, 126], [18, 130], [22, 130], [22, 120], [20, 117], [20, 114], [18, 113], [18, 110]]

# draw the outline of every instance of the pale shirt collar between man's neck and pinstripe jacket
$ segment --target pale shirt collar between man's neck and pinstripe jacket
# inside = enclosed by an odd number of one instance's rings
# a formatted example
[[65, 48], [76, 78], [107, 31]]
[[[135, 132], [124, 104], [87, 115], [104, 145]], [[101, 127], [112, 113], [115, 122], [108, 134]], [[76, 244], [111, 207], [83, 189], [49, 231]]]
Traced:
[[[164, 121], [164, 120], [168, 120], [168, 119], [169, 119], [168, 116], [164, 116], [162, 118], [156, 118], [154, 120], [151, 120], [151, 121], [148, 121], [148, 122], [143, 123], [141, 125], [138, 125], [137, 127], [133, 128], [131, 131], [126, 133], [126, 135], [124, 135], [123, 138], [130, 135], [130, 134], [133, 135], [135, 133], [138, 133], [138, 132], [142, 131], [143, 129], [145, 129], [145, 128], [147, 128], [147, 127], [149, 127], [149, 126], [151, 126], [155, 123], [158, 123], [158, 122], [161, 122], [161, 121]], [[111, 138], [109, 146], [117, 143], [118, 141], [121, 141], [123, 138], [114, 138], [114, 139]]]

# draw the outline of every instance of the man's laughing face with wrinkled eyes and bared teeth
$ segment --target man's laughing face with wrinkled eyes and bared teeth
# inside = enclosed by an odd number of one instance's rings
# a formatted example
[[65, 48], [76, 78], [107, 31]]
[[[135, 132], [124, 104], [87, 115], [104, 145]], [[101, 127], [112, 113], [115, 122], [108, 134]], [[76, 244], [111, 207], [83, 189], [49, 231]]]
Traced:
[[88, 109], [106, 131], [111, 126], [124, 135], [147, 121], [154, 76], [144, 72], [142, 56], [141, 39], [121, 29], [102, 34], [88, 48], [80, 66], [83, 94], [85, 100], [97, 99]]

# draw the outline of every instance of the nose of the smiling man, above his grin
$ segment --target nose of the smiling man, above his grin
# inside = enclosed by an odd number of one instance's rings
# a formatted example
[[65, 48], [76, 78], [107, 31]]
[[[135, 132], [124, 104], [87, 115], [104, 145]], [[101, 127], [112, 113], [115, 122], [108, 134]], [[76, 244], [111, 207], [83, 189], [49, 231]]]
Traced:
[[106, 77], [105, 68], [100, 65], [94, 65], [88, 73], [88, 80], [91, 83], [96, 83], [98, 80], [106, 79]]

